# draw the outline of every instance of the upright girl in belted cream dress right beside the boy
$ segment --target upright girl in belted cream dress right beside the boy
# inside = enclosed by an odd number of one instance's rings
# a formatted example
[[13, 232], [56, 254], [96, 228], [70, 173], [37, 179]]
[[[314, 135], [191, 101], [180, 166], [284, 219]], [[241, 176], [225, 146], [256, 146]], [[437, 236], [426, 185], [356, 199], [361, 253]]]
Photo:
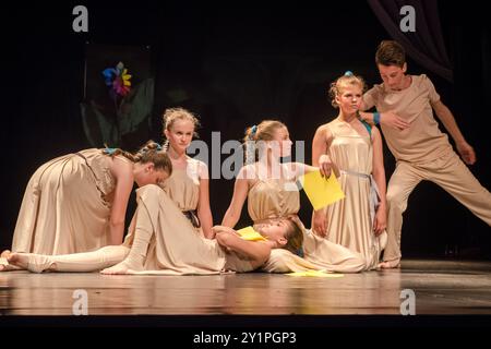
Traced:
[[[314, 212], [316, 234], [361, 253], [367, 260], [386, 243], [385, 171], [382, 137], [358, 117], [364, 82], [347, 72], [331, 86], [338, 117], [320, 127], [312, 159], [326, 172], [336, 167], [346, 197]], [[370, 268], [376, 268], [373, 260]]]

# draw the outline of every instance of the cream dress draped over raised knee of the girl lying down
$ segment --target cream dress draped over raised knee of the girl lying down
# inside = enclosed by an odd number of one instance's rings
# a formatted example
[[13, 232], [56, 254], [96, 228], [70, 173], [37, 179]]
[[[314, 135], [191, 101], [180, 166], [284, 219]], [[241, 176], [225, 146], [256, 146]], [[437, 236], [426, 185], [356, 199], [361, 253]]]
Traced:
[[135, 233], [151, 233], [143, 270], [131, 274], [216, 274], [225, 269], [226, 254], [216, 240], [202, 237], [170, 196], [157, 185], [136, 191], [137, 208], [124, 245]]

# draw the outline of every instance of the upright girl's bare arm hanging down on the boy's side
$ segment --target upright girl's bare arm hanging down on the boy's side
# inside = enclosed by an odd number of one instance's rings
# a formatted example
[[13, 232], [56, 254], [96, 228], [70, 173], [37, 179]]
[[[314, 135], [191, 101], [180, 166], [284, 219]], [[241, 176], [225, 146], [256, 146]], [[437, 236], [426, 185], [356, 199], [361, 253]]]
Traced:
[[372, 174], [375, 180], [376, 186], [380, 193], [380, 206], [376, 210], [375, 221], [373, 224], [373, 230], [376, 236], [382, 233], [387, 224], [387, 201], [386, 201], [386, 183], [385, 183], [385, 169], [384, 169], [384, 157], [382, 149], [382, 136], [376, 128], [372, 128], [373, 136], [373, 168]]

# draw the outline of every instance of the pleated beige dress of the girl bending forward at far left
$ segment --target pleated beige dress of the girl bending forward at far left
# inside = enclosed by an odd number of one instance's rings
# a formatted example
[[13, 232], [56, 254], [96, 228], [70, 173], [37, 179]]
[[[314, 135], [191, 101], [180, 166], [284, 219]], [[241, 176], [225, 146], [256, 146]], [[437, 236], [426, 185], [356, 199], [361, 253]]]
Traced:
[[100, 149], [43, 165], [24, 193], [12, 251], [64, 254], [107, 245], [115, 185], [107, 155]]

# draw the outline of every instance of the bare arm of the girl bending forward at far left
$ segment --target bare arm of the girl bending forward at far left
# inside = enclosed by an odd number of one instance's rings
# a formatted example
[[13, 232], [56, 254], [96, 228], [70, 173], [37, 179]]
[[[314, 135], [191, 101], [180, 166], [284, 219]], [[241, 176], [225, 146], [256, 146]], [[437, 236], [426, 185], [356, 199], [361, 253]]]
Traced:
[[110, 244], [117, 245], [122, 243], [128, 200], [133, 189], [133, 165], [116, 157], [112, 159], [110, 170], [116, 178], [115, 196], [109, 220]]

